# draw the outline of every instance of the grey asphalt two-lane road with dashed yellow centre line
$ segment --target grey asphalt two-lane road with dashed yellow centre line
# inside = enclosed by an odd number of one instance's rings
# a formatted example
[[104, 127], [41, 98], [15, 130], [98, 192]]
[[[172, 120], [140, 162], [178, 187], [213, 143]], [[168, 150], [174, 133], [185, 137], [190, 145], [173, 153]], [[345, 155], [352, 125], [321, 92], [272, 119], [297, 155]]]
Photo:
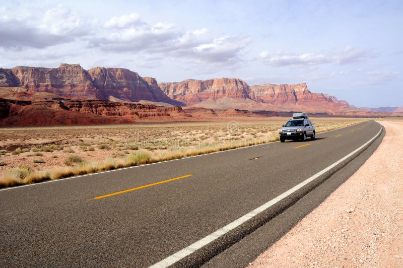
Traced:
[[[272, 143], [1, 190], [0, 266], [150, 266], [332, 165], [380, 128], [368, 121], [320, 133], [315, 141]], [[351, 171], [343, 167], [361, 151], [174, 266], [233, 265], [219, 256], [282, 219], [287, 208], [295, 210], [292, 205], [335, 172], [348, 178]]]

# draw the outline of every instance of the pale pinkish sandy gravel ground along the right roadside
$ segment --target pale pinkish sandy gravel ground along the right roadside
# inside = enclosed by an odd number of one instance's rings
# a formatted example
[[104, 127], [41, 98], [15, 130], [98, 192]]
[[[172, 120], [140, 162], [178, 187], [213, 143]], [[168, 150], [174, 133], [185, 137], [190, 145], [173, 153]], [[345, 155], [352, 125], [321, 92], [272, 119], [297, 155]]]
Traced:
[[403, 121], [380, 121], [374, 154], [252, 267], [403, 267]]

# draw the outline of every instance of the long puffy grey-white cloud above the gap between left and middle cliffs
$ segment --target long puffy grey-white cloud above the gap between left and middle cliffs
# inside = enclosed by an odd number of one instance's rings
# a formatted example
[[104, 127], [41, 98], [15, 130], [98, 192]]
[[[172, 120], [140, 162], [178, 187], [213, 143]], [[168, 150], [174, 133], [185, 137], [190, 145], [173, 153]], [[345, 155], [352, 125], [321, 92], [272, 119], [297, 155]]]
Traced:
[[90, 40], [94, 48], [161, 59], [230, 64], [240, 60], [241, 50], [250, 43], [244, 36], [211, 36], [206, 28], [183, 31], [171, 23], [149, 24], [137, 14], [114, 17], [104, 26], [113, 31]]

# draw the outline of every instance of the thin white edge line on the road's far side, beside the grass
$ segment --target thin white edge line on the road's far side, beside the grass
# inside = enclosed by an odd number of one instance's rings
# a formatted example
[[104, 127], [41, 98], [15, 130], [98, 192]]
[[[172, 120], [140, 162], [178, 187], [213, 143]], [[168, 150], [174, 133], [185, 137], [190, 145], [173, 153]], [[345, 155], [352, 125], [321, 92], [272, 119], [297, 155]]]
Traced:
[[[364, 122], [366, 122], [366, 121], [362, 121], [362, 122], [360, 122], [360, 123], [364, 123]], [[360, 123], [357, 123], [357, 124], [360, 124]], [[353, 125], [357, 125], [357, 124], [353, 124]], [[341, 128], [336, 128], [336, 129], [332, 129], [332, 130], [328, 130], [328, 131], [323, 131], [323, 132], [320, 132], [319, 134], [325, 133], [325, 132], [330, 132], [330, 131], [335, 131], [335, 130], [340, 130], [340, 129], [343, 129], [343, 128], [346, 128], [346, 127], [350, 127], [350, 126], [353, 126], [353, 125], [348, 125], [348, 126], [344, 126], [344, 127], [341, 127]], [[17, 189], [17, 188], [22, 188], [22, 187], [28, 187], [28, 186], [34, 186], [34, 185], [40, 185], [40, 184], [49, 183], [49, 182], [56, 182], [56, 181], [69, 180], [69, 179], [76, 179], [76, 178], [80, 178], [80, 177], [92, 176], [92, 175], [97, 175], [97, 174], [102, 174], [102, 173], [107, 173], [107, 172], [113, 172], [113, 171], [118, 171], [118, 170], [123, 170], [123, 169], [129, 169], [129, 168], [139, 168], [139, 167], [144, 167], [144, 166], [148, 166], [148, 165], [167, 163], [167, 162], [171, 162], [171, 161], [182, 160], [182, 159], [192, 158], [192, 157], [198, 157], [198, 156], [206, 156], [206, 155], [211, 155], [211, 154], [224, 153], [224, 152], [228, 152], [228, 151], [239, 150], [239, 149], [245, 149], [245, 148], [249, 148], [249, 147], [253, 147], [253, 146], [261, 146], [261, 145], [273, 144], [273, 143], [279, 143], [279, 142], [280, 142], [280, 141], [277, 141], [277, 142], [269, 142], [269, 143], [262, 143], [262, 144], [258, 144], [258, 145], [249, 145], [249, 146], [238, 147], [238, 148], [233, 148], [233, 149], [228, 149], [228, 150], [223, 150], [223, 151], [218, 151], [218, 152], [212, 152], [212, 153], [208, 153], [208, 154], [187, 156], [187, 157], [182, 157], [182, 158], [177, 158], [177, 159], [172, 159], [172, 160], [166, 160], [166, 161], [160, 161], [160, 162], [142, 164], [142, 165], [138, 165], [138, 166], [124, 167], [124, 168], [116, 168], [116, 169], [112, 169], [112, 170], [94, 172], [94, 173], [89, 173], [89, 174], [84, 174], [84, 175], [78, 175], [78, 176], [73, 176], [73, 177], [68, 177], [68, 178], [62, 178], [62, 179], [47, 180], [47, 181], [42, 181], [42, 182], [34, 182], [34, 183], [30, 183], [30, 184], [24, 184], [24, 185], [12, 186], [12, 187], [8, 187], [8, 188], [0, 189], [0, 191], [12, 190], [12, 189]]]

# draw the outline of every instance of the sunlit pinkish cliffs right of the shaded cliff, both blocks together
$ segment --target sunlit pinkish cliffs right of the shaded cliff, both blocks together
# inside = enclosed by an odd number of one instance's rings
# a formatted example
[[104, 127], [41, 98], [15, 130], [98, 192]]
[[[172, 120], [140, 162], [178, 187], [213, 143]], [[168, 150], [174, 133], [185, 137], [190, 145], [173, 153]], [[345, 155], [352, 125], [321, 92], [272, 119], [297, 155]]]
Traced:
[[352, 108], [346, 101], [333, 96], [316, 94], [305, 83], [296, 85], [262, 84], [249, 87], [240, 79], [185, 80], [180, 83], [160, 83], [170, 98], [206, 108], [239, 108], [248, 110], [334, 111]]

